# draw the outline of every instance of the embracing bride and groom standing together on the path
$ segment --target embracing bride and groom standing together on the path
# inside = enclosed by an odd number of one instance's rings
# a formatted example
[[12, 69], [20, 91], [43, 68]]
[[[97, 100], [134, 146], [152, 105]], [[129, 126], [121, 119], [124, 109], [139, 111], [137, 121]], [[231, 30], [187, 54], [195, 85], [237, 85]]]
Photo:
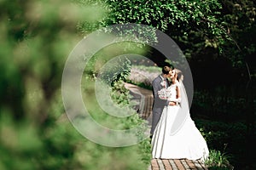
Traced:
[[163, 66], [152, 87], [152, 157], [205, 161], [209, 154], [207, 142], [189, 115], [182, 72], [173, 65]]

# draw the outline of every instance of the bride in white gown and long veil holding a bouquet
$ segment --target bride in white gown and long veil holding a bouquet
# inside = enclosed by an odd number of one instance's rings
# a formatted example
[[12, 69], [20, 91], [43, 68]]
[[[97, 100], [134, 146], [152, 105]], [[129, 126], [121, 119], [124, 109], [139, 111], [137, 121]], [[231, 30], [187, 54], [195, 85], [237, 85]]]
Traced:
[[171, 79], [172, 85], [161, 89], [159, 97], [174, 101], [177, 105], [168, 105], [162, 112], [152, 138], [152, 157], [205, 161], [209, 154], [207, 142], [189, 116], [181, 71], [172, 70]]

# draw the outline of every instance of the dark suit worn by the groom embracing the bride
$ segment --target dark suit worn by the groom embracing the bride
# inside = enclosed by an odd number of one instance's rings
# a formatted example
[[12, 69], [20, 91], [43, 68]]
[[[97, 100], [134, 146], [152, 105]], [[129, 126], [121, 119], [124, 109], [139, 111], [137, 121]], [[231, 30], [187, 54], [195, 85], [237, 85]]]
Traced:
[[[154, 128], [156, 127], [157, 123], [160, 120], [160, 116], [162, 114], [162, 111], [164, 110], [164, 107], [166, 105], [168, 105], [168, 101], [165, 99], [160, 99], [158, 97], [157, 92], [163, 88], [163, 86], [161, 85], [161, 82], [163, 80], [166, 80], [166, 78], [162, 77], [162, 76], [158, 76], [156, 78], [154, 78], [153, 82], [152, 82], [152, 88], [153, 88], [153, 96], [154, 96], [154, 103], [153, 103], [153, 111], [152, 111], [152, 127], [150, 130], [150, 134], [154, 133]], [[166, 80], [166, 88], [169, 87], [169, 82], [168, 80]]]

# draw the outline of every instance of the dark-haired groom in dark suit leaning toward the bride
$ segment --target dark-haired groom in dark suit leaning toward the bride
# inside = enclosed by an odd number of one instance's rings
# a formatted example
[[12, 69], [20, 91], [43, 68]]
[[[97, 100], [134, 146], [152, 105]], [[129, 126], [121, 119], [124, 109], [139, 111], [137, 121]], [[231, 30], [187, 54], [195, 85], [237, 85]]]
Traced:
[[170, 82], [168, 82], [167, 77], [171, 77], [171, 72], [173, 69], [174, 69], [173, 65], [163, 66], [162, 73], [158, 77], [155, 77], [152, 82], [154, 102], [153, 102], [153, 111], [152, 111], [152, 126], [150, 130], [150, 139], [152, 139], [154, 128], [156, 127], [157, 123], [160, 120], [160, 116], [162, 114], [162, 111], [164, 110], [164, 107], [166, 105], [172, 105], [173, 103], [165, 99], [160, 99], [157, 94], [157, 92], [160, 91], [161, 88], [169, 87]]

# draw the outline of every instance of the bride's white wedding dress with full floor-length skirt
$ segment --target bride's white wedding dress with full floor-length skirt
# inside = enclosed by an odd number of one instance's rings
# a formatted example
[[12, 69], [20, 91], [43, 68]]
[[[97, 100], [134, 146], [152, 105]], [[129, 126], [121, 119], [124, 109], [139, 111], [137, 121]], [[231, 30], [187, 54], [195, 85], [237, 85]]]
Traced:
[[[168, 100], [176, 98], [176, 86], [180, 86], [180, 83], [172, 84], [168, 88], [169, 93], [172, 94], [171, 99]], [[181, 96], [181, 98], [183, 97], [187, 98], [187, 96]], [[180, 105], [168, 105], [164, 108], [151, 142], [152, 157], [205, 161], [209, 154], [207, 142], [189, 115], [183, 120], [183, 124], [177, 132], [171, 133], [172, 125], [177, 120], [176, 116], [180, 108]]]

